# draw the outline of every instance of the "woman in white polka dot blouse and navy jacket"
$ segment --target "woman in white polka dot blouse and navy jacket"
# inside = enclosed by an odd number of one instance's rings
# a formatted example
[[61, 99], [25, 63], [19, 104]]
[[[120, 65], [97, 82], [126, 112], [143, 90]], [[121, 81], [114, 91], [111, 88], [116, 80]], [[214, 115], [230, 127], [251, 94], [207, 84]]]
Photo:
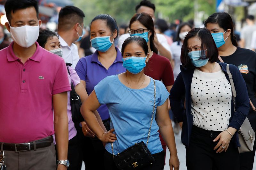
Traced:
[[188, 170], [238, 170], [237, 129], [249, 111], [240, 71], [229, 65], [237, 93], [234, 112], [227, 64], [216, 62], [218, 49], [206, 28], [194, 28], [187, 34], [180, 59], [181, 73], [170, 92], [170, 104], [182, 126]]

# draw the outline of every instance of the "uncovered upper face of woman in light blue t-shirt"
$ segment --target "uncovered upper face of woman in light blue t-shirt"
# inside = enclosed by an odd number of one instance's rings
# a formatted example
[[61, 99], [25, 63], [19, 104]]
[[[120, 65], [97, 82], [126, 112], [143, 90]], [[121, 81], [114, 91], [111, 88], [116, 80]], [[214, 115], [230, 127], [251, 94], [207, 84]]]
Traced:
[[143, 48], [136, 42], [129, 43], [124, 48], [123, 58], [126, 57], [146, 57], [146, 62], [148, 61], [149, 54], [145, 54]]

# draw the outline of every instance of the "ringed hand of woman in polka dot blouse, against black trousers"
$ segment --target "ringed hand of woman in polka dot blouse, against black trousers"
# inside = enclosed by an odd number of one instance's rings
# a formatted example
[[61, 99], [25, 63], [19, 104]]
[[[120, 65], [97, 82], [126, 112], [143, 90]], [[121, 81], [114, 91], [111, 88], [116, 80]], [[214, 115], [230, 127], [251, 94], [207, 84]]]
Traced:
[[230, 143], [230, 140], [231, 140], [232, 136], [228, 133], [227, 130], [224, 130], [222, 131], [214, 140], [213, 142], [215, 141], [218, 141], [219, 139], [219, 142], [218, 144], [214, 147], [213, 150], [217, 150], [216, 153], [220, 153], [220, 152], [223, 152], [223, 151], [227, 151], [228, 150], [228, 146], [229, 146], [229, 143]]

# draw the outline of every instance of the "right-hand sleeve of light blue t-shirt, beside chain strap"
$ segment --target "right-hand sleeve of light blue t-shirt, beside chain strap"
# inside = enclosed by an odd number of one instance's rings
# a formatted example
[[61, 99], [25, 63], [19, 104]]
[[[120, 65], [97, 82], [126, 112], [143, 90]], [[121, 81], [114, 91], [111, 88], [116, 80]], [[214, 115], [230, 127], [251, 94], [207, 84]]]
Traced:
[[161, 81], [156, 80], [156, 100], [158, 100], [157, 106], [162, 106], [168, 99], [169, 95], [170, 93], [167, 91], [164, 84]]

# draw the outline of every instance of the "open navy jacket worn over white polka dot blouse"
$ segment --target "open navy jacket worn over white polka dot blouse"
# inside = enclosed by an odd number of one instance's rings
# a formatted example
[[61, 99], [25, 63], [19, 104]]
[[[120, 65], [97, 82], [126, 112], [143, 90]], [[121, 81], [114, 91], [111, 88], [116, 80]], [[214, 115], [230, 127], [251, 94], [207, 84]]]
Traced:
[[[224, 71], [225, 76], [229, 81], [227, 73], [227, 63], [220, 63], [221, 69]], [[193, 114], [191, 112], [191, 94], [190, 88], [195, 68], [183, 68], [180, 66], [180, 74], [177, 76], [175, 83], [170, 92], [170, 104], [174, 116], [178, 122], [183, 122], [181, 141], [185, 146], [189, 145], [192, 125], [193, 125]], [[229, 119], [228, 127], [239, 129], [244, 122], [244, 119], [249, 113], [249, 97], [247, 88], [244, 82], [242, 74], [235, 65], [229, 64], [229, 70], [232, 74], [234, 85], [236, 88], [236, 112], [234, 113], [233, 98], [231, 106], [231, 118]], [[182, 104], [182, 97], [185, 96], [185, 108]], [[233, 142], [236, 146], [240, 146], [238, 140], [238, 133], [234, 135]]]

